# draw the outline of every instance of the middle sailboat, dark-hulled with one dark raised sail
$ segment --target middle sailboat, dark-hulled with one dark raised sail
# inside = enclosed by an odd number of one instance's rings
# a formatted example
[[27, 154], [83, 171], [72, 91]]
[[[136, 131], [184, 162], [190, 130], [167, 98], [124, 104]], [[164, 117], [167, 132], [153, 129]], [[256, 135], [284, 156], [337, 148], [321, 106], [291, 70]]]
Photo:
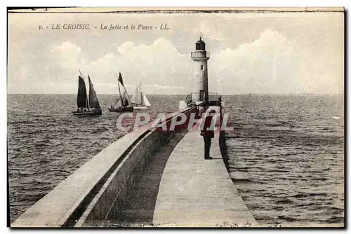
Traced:
[[117, 101], [111, 105], [111, 107], [109, 108], [109, 111], [113, 111], [113, 112], [133, 111], [133, 106], [131, 106], [131, 99], [129, 98], [126, 88], [124, 87], [121, 72], [119, 72], [119, 78], [118, 78], [118, 91], [119, 91], [119, 97], [117, 98]]

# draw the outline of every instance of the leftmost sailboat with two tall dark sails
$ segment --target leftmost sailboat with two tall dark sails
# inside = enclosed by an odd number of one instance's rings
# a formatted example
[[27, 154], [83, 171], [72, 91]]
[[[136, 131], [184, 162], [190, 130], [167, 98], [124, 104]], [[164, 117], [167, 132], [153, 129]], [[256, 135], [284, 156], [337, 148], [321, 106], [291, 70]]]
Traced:
[[[79, 71], [80, 73], [80, 71]], [[76, 116], [101, 116], [102, 110], [100, 108], [98, 96], [94, 90], [91, 78], [88, 75], [89, 82], [89, 99], [86, 95], [86, 83], [83, 75], [78, 76], [78, 94], [77, 94], [77, 111], [72, 111]]]

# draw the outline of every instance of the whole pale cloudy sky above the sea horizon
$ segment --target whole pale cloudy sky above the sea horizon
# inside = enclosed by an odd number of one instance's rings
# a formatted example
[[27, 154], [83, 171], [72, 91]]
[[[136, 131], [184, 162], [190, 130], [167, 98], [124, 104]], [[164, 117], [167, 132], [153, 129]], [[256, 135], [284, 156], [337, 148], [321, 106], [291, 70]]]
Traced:
[[[51, 29], [57, 24], [60, 29]], [[62, 29], [65, 24], [90, 29]], [[110, 24], [122, 29], [100, 29]], [[195, 76], [190, 53], [200, 33], [211, 53], [209, 92], [343, 93], [344, 15], [338, 12], [10, 13], [8, 93], [74, 94], [80, 69], [98, 94], [118, 92], [119, 72], [129, 92], [141, 82], [147, 94], [188, 94]]]

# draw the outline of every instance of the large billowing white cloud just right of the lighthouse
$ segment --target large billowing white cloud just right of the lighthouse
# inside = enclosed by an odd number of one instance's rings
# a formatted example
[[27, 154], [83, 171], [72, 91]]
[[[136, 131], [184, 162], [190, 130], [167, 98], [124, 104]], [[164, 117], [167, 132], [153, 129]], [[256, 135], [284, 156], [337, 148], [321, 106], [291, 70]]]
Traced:
[[217, 87], [225, 93], [302, 92], [296, 83], [297, 60], [294, 43], [266, 29], [252, 43], [216, 53], [212, 64], [218, 69]]

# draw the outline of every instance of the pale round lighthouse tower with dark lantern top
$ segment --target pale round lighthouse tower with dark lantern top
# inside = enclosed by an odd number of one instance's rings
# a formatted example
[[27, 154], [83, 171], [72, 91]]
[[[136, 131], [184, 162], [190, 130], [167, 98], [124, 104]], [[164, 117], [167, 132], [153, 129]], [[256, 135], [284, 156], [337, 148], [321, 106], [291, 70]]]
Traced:
[[192, 52], [194, 60], [195, 76], [192, 86], [193, 102], [208, 102], [208, 78], [207, 78], [207, 60], [210, 58], [206, 52], [206, 43], [201, 40], [195, 44], [195, 51]]

